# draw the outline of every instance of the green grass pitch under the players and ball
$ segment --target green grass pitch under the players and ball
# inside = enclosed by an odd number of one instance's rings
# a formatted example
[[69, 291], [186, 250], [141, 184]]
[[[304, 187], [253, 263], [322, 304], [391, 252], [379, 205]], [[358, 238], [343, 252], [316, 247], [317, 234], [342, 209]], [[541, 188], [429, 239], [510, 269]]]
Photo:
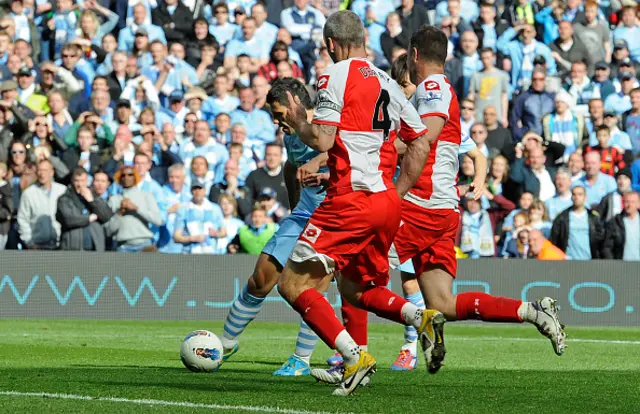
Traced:
[[[191, 330], [220, 333], [221, 323], [0, 320], [0, 392], [66, 393], [227, 406], [354, 413], [637, 413], [640, 329], [569, 329], [569, 349], [556, 357], [531, 326], [446, 327], [447, 366], [429, 375], [388, 368], [402, 328], [370, 327], [378, 373], [356, 396], [331, 396], [310, 377], [278, 378], [293, 350], [297, 325], [252, 324], [240, 352], [215, 374], [182, 367], [179, 347]], [[574, 339], [574, 342], [571, 342]], [[592, 341], [592, 342], [591, 342]], [[603, 341], [618, 341], [603, 342]], [[312, 363], [324, 365], [320, 345]], [[204, 412], [211, 408], [148, 406], [0, 396], [0, 412]], [[219, 409], [217, 412], [248, 412]]]

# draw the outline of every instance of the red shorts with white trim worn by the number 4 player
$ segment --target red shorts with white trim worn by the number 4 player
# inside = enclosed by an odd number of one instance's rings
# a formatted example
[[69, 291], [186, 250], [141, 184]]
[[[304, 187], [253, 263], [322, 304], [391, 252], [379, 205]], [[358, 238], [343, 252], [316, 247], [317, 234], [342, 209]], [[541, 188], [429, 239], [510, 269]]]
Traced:
[[358, 284], [389, 283], [389, 248], [400, 225], [395, 189], [327, 196], [291, 253], [294, 262], [320, 261]]

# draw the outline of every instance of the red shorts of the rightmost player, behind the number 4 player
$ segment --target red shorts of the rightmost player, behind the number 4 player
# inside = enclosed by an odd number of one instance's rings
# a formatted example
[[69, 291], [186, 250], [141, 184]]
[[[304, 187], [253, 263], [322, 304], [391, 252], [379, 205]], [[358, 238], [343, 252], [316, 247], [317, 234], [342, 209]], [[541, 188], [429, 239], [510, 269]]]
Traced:
[[416, 275], [442, 265], [456, 277], [456, 232], [460, 213], [451, 209], [425, 209], [402, 201], [402, 225], [393, 241], [400, 263], [413, 259]]

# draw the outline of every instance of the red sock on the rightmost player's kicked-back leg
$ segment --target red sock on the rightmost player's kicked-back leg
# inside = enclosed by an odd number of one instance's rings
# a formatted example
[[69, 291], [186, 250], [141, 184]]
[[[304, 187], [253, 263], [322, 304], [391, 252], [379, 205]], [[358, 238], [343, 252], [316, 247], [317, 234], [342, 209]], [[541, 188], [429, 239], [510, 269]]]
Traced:
[[481, 319], [487, 322], [522, 322], [518, 316], [521, 300], [491, 296], [481, 292], [460, 293], [456, 299], [459, 321]]

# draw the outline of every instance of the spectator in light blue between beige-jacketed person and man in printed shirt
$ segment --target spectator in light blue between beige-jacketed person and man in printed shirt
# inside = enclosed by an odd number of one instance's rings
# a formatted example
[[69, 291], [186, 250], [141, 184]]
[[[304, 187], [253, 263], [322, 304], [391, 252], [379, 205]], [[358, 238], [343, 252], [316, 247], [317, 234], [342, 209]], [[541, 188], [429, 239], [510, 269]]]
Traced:
[[178, 211], [191, 201], [191, 191], [185, 185], [185, 178], [186, 172], [182, 164], [169, 167], [169, 183], [162, 187], [166, 209], [162, 210], [165, 224], [160, 227], [160, 238], [157, 244], [160, 253], [182, 253], [183, 246], [175, 242], [173, 233], [175, 232]]

